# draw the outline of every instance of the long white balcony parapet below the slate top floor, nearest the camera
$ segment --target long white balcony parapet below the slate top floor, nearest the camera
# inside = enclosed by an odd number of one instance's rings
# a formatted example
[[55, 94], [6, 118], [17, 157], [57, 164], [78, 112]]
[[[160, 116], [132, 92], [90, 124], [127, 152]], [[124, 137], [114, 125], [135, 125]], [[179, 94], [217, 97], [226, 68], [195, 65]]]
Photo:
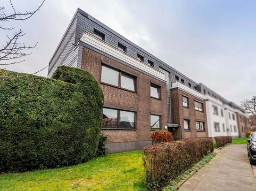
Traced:
[[118, 48], [117, 46], [113, 46], [107, 43], [105, 40], [95, 37], [93, 34], [89, 32], [85, 31], [82, 37], [80, 38], [80, 40], [83, 43], [93, 48], [96, 48], [103, 53], [107, 53], [108, 55], [113, 56], [120, 61], [128, 63], [129, 65], [139, 70], [142, 70], [143, 72], [149, 74], [150, 76], [157, 77], [158, 79], [166, 82], [165, 74], [163, 74], [159, 70], [149, 66], [148, 63], [140, 61], [138, 58], [132, 56], [131, 54], [120, 50], [120, 48]]

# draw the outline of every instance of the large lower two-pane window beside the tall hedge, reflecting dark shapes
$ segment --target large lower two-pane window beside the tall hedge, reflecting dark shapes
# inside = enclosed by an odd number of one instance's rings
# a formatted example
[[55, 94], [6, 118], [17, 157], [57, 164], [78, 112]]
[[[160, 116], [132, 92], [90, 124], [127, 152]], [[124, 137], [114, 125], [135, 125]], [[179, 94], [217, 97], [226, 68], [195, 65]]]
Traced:
[[135, 112], [103, 108], [103, 128], [135, 129]]

